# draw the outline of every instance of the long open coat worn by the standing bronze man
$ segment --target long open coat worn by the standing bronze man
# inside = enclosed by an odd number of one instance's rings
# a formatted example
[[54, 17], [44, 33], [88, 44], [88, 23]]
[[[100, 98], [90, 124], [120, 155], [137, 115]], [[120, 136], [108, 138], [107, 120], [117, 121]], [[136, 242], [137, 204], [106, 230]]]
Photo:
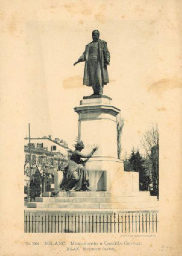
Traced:
[[[83, 52], [82, 56], [78, 59], [79, 62], [85, 61], [83, 84], [87, 86], [92, 86], [89, 83], [89, 72], [88, 72], [89, 71], [89, 47], [91, 43], [86, 45], [85, 52]], [[107, 65], [109, 64], [109, 61], [110, 61], [110, 53], [108, 51], [107, 43], [105, 41], [99, 39], [98, 43], [99, 43], [98, 57], [101, 64], [100, 66], [102, 67], [102, 70], [101, 70], [102, 84], [107, 84], [109, 82]]]

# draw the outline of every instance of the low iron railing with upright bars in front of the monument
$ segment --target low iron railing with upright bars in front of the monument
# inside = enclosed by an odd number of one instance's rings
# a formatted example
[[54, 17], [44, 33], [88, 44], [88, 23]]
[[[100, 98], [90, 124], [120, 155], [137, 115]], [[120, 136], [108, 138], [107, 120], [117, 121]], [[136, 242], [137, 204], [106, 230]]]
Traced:
[[156, 233], [158, 212], [25, 213], [25, 233]]

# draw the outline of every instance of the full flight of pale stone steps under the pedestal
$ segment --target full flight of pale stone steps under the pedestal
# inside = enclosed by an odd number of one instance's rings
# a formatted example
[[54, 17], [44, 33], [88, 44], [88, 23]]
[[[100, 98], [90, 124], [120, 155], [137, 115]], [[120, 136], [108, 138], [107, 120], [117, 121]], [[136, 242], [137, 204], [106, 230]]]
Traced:
[[149, 192], [122, 192], [114, 197], [110, 192], [59, 192], [58, 197], [48, 197], [50, 192], [44, 192], [46, 197], [35, 198], [29, 202], [28, 208], [60, 208], [60, 209], [157, 209], [156, 197]]

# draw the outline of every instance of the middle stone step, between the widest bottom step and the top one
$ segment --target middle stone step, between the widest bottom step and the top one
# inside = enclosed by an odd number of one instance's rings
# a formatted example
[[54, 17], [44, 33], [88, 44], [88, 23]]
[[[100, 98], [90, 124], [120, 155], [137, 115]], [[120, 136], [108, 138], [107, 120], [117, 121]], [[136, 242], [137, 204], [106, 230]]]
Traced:
[[37, 197], [35, 202], [43, 203], [113, 203], [113, 202], [149, 202], [156, 201], [156, 196], [140, 197]]

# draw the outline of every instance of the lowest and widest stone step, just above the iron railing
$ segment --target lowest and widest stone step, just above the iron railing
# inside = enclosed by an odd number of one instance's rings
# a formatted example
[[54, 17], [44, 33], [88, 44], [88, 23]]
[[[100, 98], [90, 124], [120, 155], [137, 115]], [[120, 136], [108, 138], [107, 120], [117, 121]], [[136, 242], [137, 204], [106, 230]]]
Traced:
[[158, 207], [158, 201], [124, 203], [41, 203], [29, 202], [28, 208], [82, 208], [82, 209], [146, 209]]

